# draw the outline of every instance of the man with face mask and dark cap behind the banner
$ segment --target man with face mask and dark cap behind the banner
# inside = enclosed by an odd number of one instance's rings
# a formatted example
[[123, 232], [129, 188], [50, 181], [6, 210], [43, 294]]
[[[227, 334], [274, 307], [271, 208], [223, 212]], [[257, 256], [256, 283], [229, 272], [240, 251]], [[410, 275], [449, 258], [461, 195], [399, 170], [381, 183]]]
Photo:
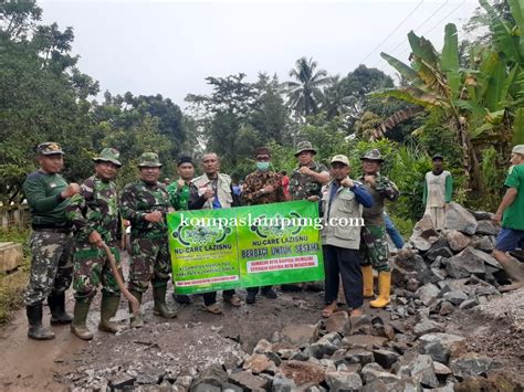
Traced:
[[[270, 150], [268, 147], [259, 147], [254, 150], [256, 170], [248, 174], [242, 190], [242, 202], [244, 205], [256, 205], [285, 201], [282, 177], [270, 170]], [[264, 286], [262, 295], [268, 298], [276, 298], [272, 286]], [[249, 287], [247, 304], [254, 304], [259, 287]]]

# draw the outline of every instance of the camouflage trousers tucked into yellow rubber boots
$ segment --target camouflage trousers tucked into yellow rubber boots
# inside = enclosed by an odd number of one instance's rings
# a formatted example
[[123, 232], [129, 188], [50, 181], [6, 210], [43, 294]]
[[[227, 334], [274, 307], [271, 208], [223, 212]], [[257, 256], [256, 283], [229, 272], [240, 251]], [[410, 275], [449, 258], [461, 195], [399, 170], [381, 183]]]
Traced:
[[386, 226], [368, 224], [360, 231], [361, 265], [373, 265], [378, 272], [389, 271], [389, 248]]

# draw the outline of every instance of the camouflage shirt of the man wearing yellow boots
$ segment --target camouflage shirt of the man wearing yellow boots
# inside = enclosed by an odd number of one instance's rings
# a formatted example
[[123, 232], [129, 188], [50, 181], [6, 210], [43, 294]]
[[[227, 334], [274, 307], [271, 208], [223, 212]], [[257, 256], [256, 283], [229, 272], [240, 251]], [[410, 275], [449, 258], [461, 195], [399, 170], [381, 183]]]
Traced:
[[366, 187], [366, 190], [373, 197], [373, 206], [370, 209], [364, 209], [363, 218], [365, 225], [379, 225], [384, 223], [384, 201], [396, 201], [400, 194], [397, 186], [389, 180], [387, 177], [377, 173], [375, 177], [375, 187], [371, 187], [368, 182], [364, 181], [364, 176], [360, 177], [360, 181]]

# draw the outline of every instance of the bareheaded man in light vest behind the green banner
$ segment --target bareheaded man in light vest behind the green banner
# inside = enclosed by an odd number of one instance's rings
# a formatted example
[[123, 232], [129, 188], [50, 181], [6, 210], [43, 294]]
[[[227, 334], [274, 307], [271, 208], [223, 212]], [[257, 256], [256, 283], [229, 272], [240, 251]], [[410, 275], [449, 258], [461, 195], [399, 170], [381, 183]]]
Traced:
[[[214, 152], [202, 156], [203, 176], [191, 181], [189, 189], [189, 210], [229, 209], [240, 204], [233, 192], [231, 177], [219, 172], [220, 161]], [[223, 290], [223, 300], [232, 306], [241, 306], [240, 298], [233, 290]], [[222, 314], [222, 308], [217, 304], [217, 292], [203, 294], [206, 309], [213, 314]]]

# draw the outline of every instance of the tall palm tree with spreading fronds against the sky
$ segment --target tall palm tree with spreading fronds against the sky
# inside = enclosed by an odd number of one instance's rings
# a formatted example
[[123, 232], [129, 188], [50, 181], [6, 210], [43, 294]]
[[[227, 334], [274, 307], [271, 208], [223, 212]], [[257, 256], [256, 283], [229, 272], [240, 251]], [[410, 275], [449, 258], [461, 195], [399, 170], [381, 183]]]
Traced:
[[321, 87], [328, 82], [327, 72], [318, 70], [315, 72], [317, 63], [313, 59], [301, 57], [296, 61], [295, 67], [290, 71], [290, 76], [297, 82], [285, 82], [287, 88], [289, 105], [293, 115], [301, 119], [317, 113], [323, 94]]

